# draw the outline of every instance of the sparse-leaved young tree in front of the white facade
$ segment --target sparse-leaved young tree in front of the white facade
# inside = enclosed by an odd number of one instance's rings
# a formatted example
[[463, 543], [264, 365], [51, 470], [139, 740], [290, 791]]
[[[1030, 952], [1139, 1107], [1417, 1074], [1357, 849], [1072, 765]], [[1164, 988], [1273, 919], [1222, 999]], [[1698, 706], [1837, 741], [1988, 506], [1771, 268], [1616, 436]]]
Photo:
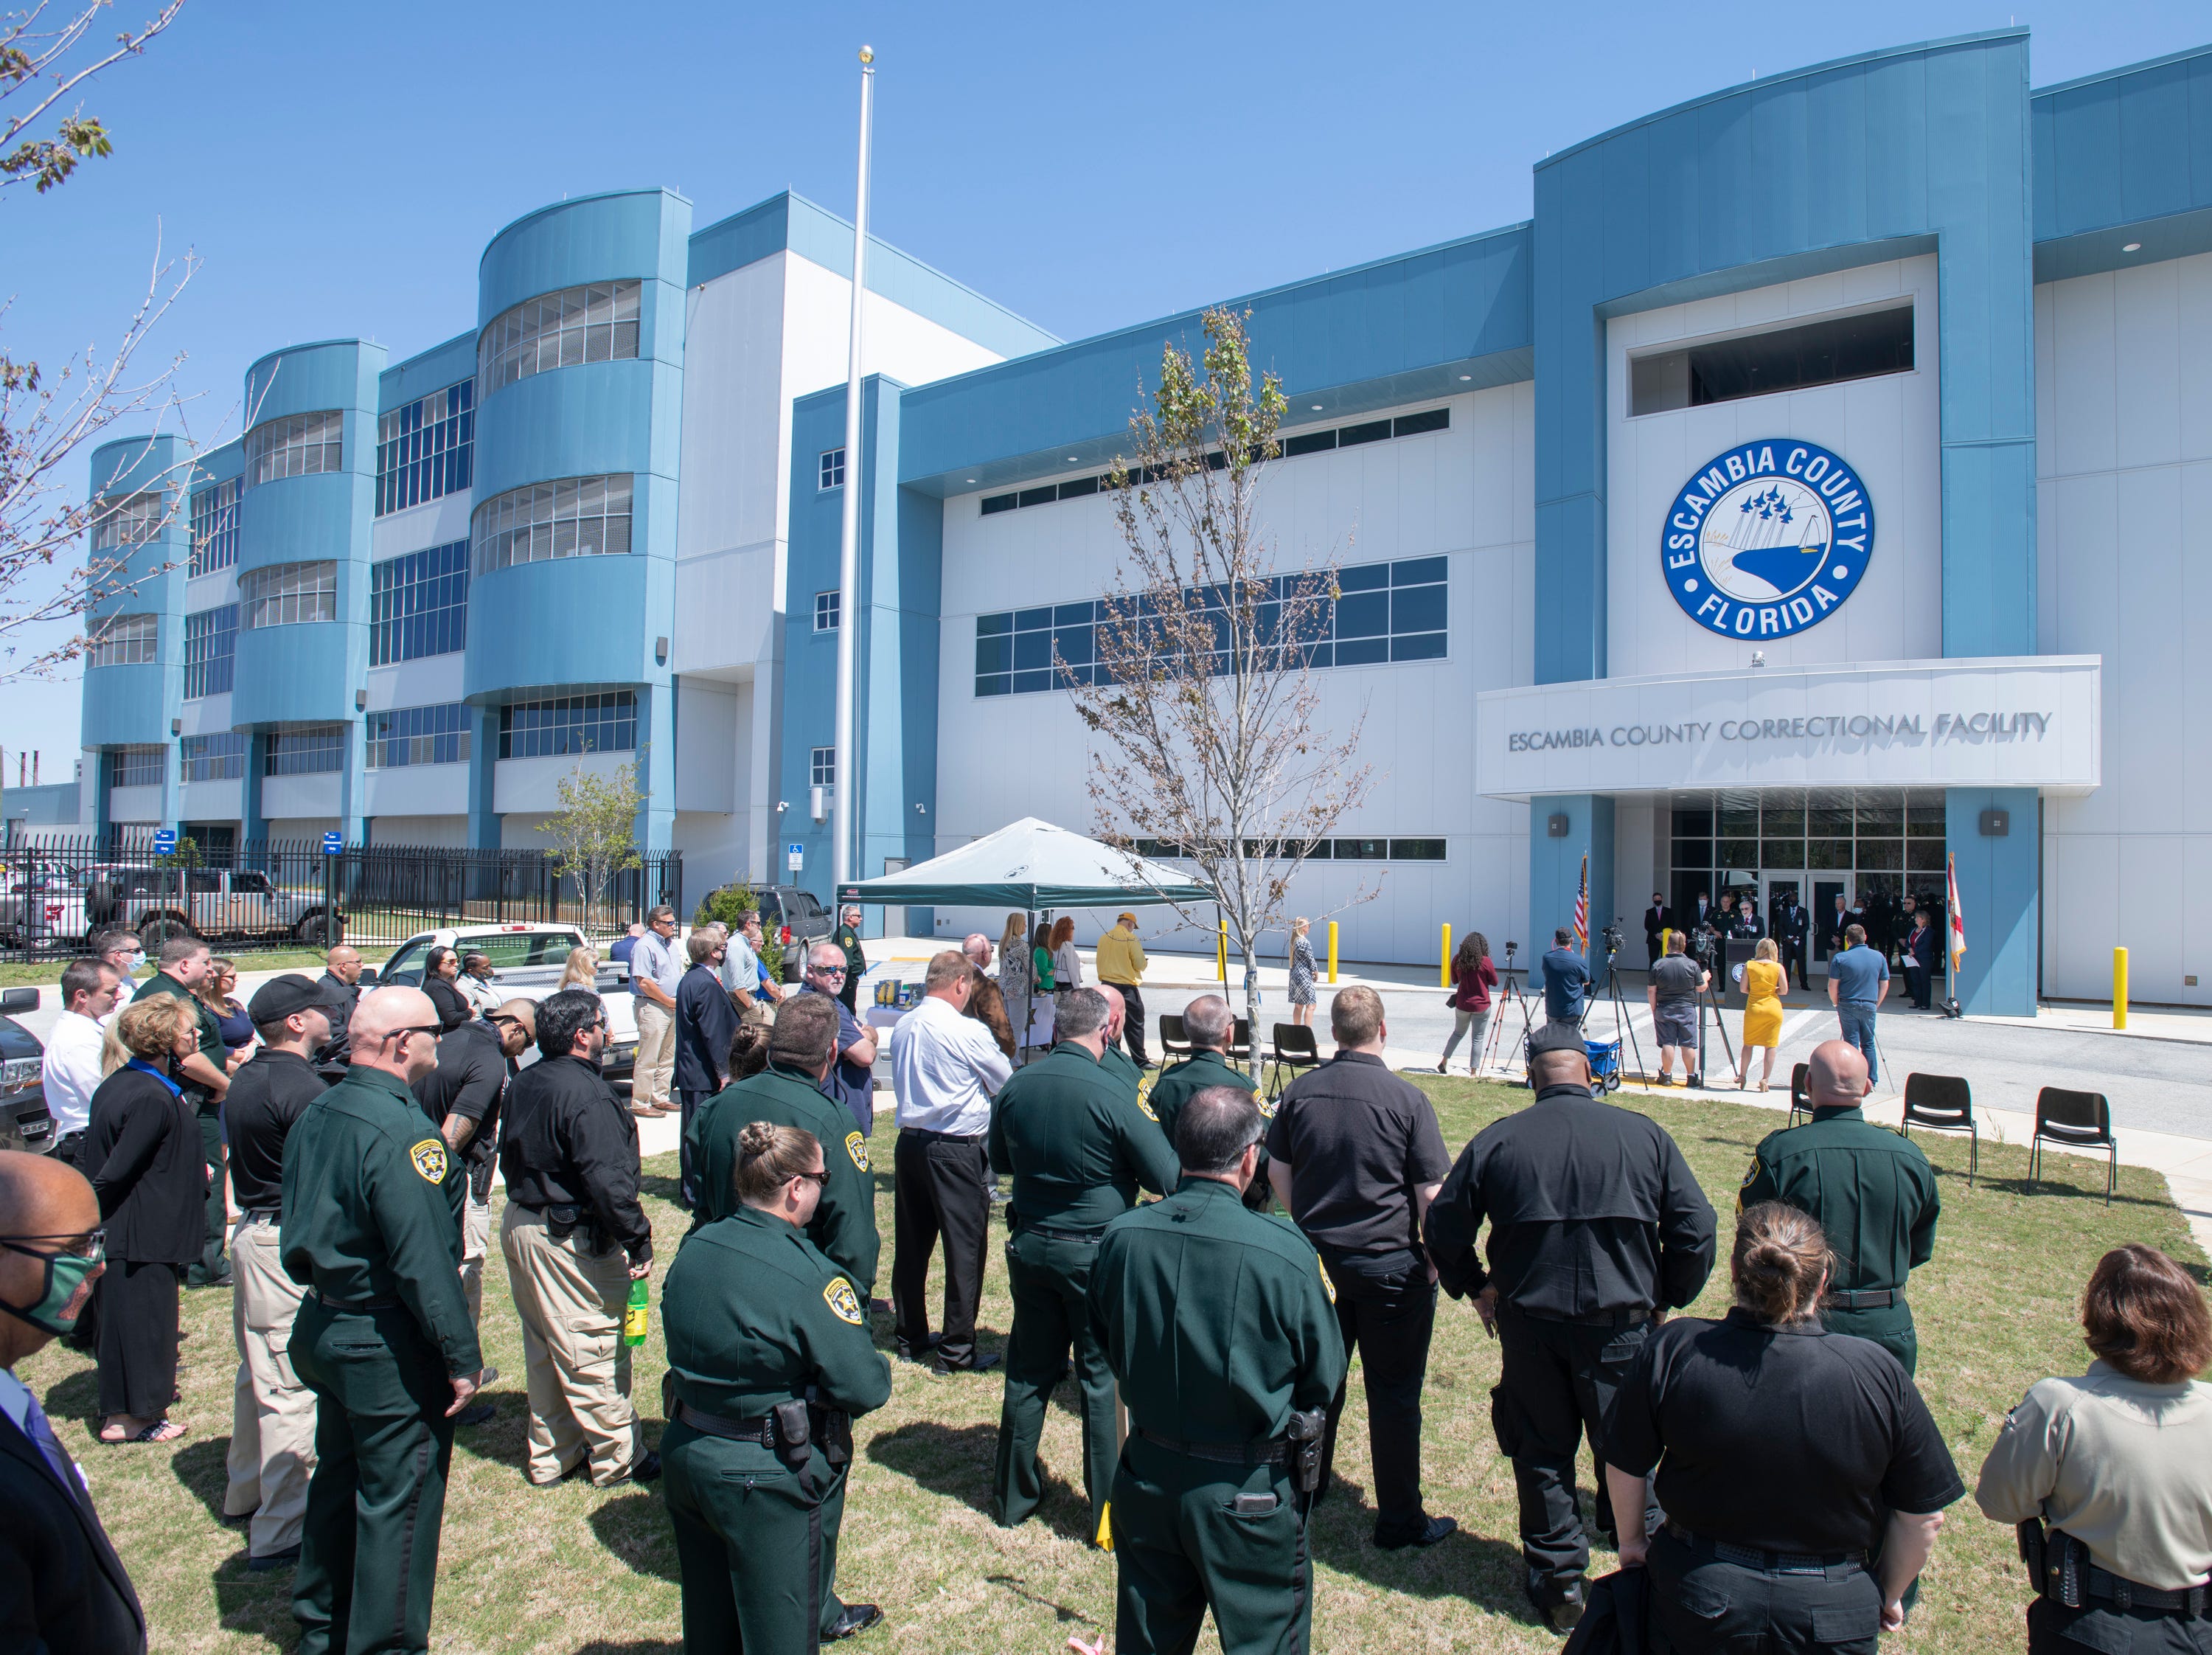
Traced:
[[[1336, 562], [1276, 573], [1259, 529], [1287, 403], [1274, 374], [1254, 387], [1243, 323], [1208, 310], [1199, 363], [1172, 341], [1161, 350], [1152, 407], [1128, 423], [1135, 454], [1108, 476], [1128, 555], [1095, 626], [1097, 673], [1057, 668], [1095, 737], [1099, 839], [1166, 839], [1194, 863], [1256, 1024], [1261, 938], [1285, 929], [1298, 867], [1365, 801], [1369, 766], [1365, 710], [1343, 730], [1318, 721], [1314, 646], [1329, 635]], [[1168, 901], [1214, 927], [1203, 903]]]

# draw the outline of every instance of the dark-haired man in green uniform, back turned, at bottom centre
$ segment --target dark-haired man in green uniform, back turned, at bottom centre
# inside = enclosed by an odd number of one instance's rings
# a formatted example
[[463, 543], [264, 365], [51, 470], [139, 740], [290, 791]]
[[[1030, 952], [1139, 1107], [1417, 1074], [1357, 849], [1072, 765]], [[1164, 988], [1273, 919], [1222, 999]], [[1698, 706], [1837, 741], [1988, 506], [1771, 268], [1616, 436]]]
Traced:
[[1130, 1418], [1113, 1478], [1121, 1655], [1183, 1655], [1208, 1609], [1223, 1655], [1310, 1644], [1305, 1518], [1345, 1341], [1312, 1243], [1243, 1206], [1259, 1133], [1234, 1086], [1183, 1104], [1181, 1184], [1108, 1224], [1091, 1268], [1091, 1336]]

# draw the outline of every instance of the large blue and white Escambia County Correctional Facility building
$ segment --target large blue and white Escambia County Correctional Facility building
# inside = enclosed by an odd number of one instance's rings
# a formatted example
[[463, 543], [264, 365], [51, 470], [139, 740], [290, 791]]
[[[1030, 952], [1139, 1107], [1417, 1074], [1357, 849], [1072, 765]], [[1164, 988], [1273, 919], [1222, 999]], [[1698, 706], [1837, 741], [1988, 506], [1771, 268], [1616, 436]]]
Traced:
[[[635, 759], [690, 896], [801, 845], [827, 898], [843, 626], [863, 876], [1088, 825], [1048, 666], [1199, 314], [1060, 343], [876, 246], [847, 462], [849, 226], [690, 217], [549, 206], [445, 345], [285, 347], [241, 443], [95, 456], [100, 538], [177, 569], [104, 617], [84, 825], [533, 845], [580, 757]], [[1234, 303], [1292, 405], [1274, 555], [1345, 564], [1325, 717], [1376, 785], [1298, 907], [1380, 878], [1349, 956], [1544, 936], [1584, 854], [1630, 934], [1655, 889], [1825, 909], [1955, 858], [1969, 1011], [2097, 996], [2115, 943], [2212, 1002], [2212, 49], [1761, 77], [1546, 157], [1526, 223]]]

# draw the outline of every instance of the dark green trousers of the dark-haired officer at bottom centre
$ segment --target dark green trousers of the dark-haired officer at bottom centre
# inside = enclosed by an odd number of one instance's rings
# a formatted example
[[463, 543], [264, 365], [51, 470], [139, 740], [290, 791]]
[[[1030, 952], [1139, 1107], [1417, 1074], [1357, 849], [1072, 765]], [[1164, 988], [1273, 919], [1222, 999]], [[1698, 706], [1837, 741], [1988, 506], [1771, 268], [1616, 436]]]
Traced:
[[[1239, 1513], [1239, 1493], [1274, 1505]], [[1314, 1626], [1303, 1507], [1281, 1465], [1192, 1460], [1133, 1436], [1113, 1478], [1119, 1655], [1188, 1655], [1208, 1609], [1223, 1655], [1303, 1655]]]

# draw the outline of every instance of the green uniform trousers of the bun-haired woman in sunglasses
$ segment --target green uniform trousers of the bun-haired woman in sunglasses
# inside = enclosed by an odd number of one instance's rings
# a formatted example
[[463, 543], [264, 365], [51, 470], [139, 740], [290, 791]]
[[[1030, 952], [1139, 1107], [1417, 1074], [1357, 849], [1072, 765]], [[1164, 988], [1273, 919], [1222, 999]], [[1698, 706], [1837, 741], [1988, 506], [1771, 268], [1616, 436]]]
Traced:
[[703, 1436], [681, 1420], [661, 1436], [661, 1491], [684, 1571], [686, 1655], [792, 1655], [821, 1648], [836, 1540], [823, 1496], [845, 1478], [816, 1447], [805, 1474], [774, 1449]]

